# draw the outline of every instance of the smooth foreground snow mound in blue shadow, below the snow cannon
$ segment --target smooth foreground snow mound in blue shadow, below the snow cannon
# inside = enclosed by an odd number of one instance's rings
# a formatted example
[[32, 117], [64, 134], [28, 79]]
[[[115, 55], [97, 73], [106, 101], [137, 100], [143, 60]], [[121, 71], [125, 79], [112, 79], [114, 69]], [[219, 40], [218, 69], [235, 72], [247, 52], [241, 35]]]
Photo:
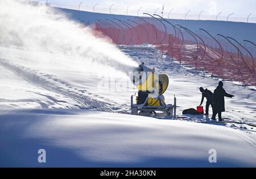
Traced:
[[[255, 166], [255, 136], [90, 110], [1, 110], [1, 166]], [[39, 164], [38, 149], [47, 162]], [[217, 163], [209, 163], [216, 149]]]

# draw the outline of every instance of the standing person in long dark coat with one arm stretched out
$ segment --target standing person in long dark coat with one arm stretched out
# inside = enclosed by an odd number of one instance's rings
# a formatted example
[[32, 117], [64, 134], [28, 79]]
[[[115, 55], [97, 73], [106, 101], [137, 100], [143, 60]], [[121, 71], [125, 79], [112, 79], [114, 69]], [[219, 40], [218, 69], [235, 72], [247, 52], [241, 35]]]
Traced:
[[223, 88], [223, 82], [220, 81], [218, 82], [217, 88], [213, 92], [213, 120], [216, 120], [216, 115], [218, 114], [218, 120], [222, 121], [221, 113], [225, 111], [224, 97], [233, 98], [234, 95], [226, 93]]

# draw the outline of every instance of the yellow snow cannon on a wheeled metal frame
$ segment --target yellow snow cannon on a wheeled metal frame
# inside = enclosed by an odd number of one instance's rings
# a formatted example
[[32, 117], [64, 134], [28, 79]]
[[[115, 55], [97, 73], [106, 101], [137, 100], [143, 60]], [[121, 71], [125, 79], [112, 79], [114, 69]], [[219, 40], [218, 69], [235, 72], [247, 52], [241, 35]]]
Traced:
[[170, 116], [174, 109], [176, 114], [176, 98], [174, 105], [166, 105], [164, 102], [163, 93], [169, 85], [167, 74], [156, 72], [154, 68], [148, 68], [142, 63], [129, 76], [131, 82], [138, 89], [138, 95], [131, 95], [131, 114], [156, 115], [155, 111], [164, 111], [166, 115]]

